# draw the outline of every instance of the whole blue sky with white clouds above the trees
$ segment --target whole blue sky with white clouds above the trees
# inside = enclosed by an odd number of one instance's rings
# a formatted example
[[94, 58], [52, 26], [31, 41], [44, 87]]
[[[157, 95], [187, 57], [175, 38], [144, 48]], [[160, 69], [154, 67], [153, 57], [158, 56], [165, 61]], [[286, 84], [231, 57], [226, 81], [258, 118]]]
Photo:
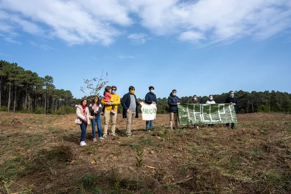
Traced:
[[291, 93], [290, 53], [291, 0], [0, 0], [0, 59], [78, 98], [102, 69], [121, 97]]

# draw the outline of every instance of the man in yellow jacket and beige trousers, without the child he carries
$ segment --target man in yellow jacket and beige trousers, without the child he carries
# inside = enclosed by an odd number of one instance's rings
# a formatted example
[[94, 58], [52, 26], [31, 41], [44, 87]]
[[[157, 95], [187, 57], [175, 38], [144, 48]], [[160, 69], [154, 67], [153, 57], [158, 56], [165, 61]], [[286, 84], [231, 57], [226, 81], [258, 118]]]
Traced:
[[[109, 134], [112, 136], [115, 135], [116, 128], [116, 118], [117, 118], [117, 105], [120, 104], [120, 96], [116, 94], [117, 87], [115, 85], [111, 86], [111, 99], [109, 102], [104, 102], [101, 100], [101, 104], [105, 106], [104, 112], [104, 128], [103, 128], [103, 138], [107, 137], [107, 130], [109, 121], [111, 121], [111, 130]], [[112, 111], [112, 105], [115, 105], [114, 112]]]

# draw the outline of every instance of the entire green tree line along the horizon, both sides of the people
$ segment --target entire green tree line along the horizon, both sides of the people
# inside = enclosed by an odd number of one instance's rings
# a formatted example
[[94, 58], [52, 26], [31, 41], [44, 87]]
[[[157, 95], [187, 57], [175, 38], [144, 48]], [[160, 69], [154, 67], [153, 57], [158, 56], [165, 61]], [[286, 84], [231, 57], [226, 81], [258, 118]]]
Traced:
[[[193, 94], [194, 95], [194, 94]], [[198, 96], [201, 104], [208, 97]], [[228, 93], [213, 95], [216, 103], [225, 103]], [[189, 103], [193, 96], [180, 97], [181, 103]], [[287, 92], [235, 91], [238, 98], [238, 113], [291, 113], [291, 94]], [[88, 97], [90, 98], [90, 97]], [[101, 96], [99, 96], [101, 99]], [[143, 99], [138, 98], [138, 101]], [[17, 63], [0, 61], [0, 111], [21, 113], [65, 114], [75, 113], [74, 106], [81, 99], [74, 98], [71, 91], [56, 89], [51, 76], [39, 77]], [[157, 113], [168, 113], [167, 97], [157, 99]], [[118, 113], [122, 112], [121, 104]]]

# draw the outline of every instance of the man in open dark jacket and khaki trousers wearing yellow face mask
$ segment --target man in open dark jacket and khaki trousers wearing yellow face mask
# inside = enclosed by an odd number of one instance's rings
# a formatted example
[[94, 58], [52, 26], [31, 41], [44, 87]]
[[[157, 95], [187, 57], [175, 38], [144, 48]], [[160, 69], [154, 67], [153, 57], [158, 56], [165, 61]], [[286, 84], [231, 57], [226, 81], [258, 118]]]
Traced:
[[138, 118], [136, 96], [134, 95], [135, 88], [129, 86], [129, 93], [125, 94], [121, 100], [123, 107], [122, 118], [126, 118], [126, 136], [131, 136], [134, 118]]

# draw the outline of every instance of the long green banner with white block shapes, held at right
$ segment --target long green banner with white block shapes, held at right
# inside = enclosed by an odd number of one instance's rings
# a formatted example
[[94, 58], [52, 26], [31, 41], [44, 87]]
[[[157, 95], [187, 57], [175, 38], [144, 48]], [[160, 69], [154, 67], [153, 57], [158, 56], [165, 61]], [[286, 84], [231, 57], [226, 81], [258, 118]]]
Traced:
[[237, 123], [232, 104], [179, 104], [180, 125]]

